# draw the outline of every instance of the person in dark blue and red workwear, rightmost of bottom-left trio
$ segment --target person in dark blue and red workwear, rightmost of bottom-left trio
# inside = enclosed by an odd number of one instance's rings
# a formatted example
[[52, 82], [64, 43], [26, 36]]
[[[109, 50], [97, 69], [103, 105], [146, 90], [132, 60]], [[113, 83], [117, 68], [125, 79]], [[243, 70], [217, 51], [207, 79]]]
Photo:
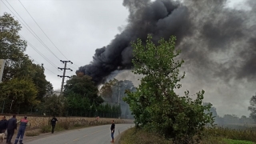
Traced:
[[22, 118], [22, 120], [18, 121], [17, 123], [20, 123], [20, 126], [18, 128], [18, 134], [17, 134], [14, 144], [18, 143], [18, 139], [19, 139], [19, 143], [23, 144], [22, 141], [23, 141], [23, 136], [25, 134], [26, 126], [30, 126], [30, 123], [27, 120], [26, 116], [24, 118]]

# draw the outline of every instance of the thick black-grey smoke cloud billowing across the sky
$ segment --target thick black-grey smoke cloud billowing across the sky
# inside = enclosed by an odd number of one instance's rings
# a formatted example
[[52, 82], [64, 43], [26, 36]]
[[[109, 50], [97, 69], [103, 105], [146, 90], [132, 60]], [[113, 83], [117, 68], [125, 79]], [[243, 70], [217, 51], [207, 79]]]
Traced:
[[256, 79], [256, 2], [247, 1], [249, 10], [226, 7], [226, 0], [124, 0], [130, 11], [128, 25], [110, 45], [95, 51], [93, 61], [77, 72], [100, 83], [114, 70], [130, 69], [130, 42], [152, 34], [178, 38], [186, 69], [200, 78]]

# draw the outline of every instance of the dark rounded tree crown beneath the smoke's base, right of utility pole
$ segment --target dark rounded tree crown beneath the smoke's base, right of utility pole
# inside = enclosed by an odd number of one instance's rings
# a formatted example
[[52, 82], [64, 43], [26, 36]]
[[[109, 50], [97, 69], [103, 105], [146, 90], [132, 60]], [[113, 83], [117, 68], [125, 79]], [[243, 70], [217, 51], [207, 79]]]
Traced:
[[98, 88], [88, 75], [74, 75], [70, 80], [66, 81], [64, 96], [68, 97], [69, 94], [73, 93], [79, 94], [81, 97], [89, 98], [90, 104], [95, 103], [96, 106], [104, 102], [103, 99], [98, 96]]

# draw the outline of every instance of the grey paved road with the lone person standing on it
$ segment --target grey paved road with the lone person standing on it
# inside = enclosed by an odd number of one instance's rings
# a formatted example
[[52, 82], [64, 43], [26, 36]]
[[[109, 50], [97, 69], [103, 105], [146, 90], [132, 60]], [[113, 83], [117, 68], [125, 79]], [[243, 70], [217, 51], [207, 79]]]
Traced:
[[[131, 126], [134, 124], [116, 124], [114, 137], [118, 136], [118, 132], [122, 133]], [[110, 125], [103, 125], [50, 134], [43, 138], [39, 136], [39, 138], [26, 142], [26, 144], [105, 144], [110, 143], [110, 141]]]

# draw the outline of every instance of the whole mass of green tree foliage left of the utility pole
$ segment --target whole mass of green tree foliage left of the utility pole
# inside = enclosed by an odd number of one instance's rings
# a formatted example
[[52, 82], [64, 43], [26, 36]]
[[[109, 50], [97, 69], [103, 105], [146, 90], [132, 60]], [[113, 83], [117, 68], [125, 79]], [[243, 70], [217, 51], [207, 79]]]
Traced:
[[24, 53], [27, 45], [18, 34], [22, 29], [18, 21], [10, 14], [4, 13], [0, 17], [0, 23], [4, 27], [0, 33], [0, 59], [6, 59], [0, 86], [0, 101], [10, 106], [14, 100], [14, 112], [24, 114], [32, 111], [31, 107], [38, 105], [38, 102], [43, 102], [42, 98], [46, 94], [52, 94], [53, 87], [46, 81], [43, 66], [34, 64]]

